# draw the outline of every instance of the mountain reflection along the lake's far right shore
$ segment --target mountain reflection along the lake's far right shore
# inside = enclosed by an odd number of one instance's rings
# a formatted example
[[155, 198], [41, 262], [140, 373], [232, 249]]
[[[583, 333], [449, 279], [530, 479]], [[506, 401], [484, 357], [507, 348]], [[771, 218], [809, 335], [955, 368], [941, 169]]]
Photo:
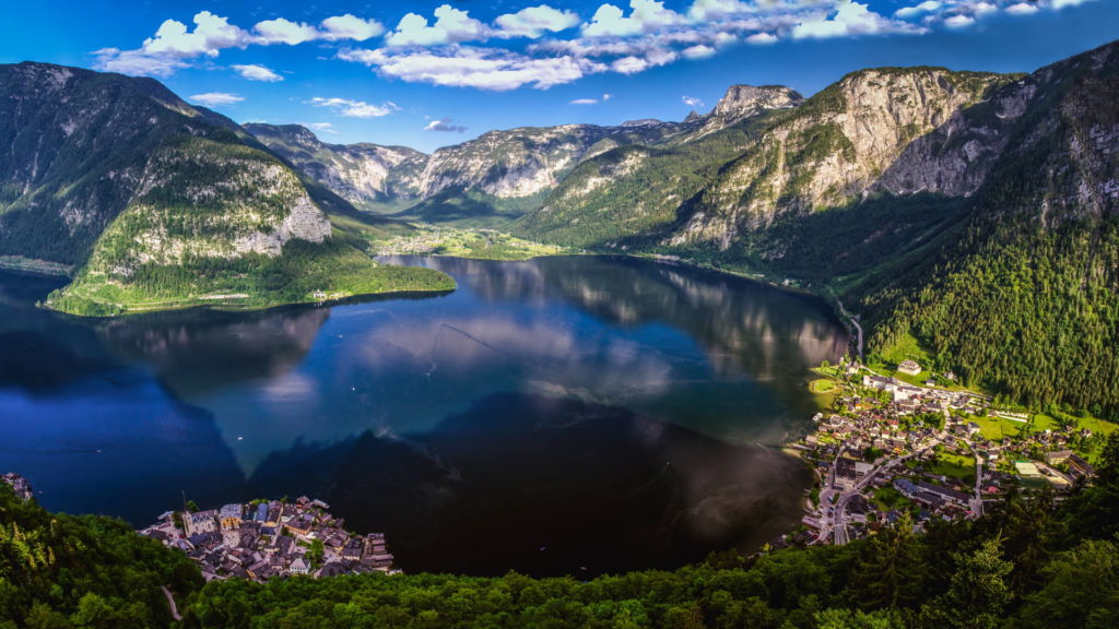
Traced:
[[841, 355], [847, 340], [816, 298], [732, 275], [628, 257], [557, 256], [524, 263], [402, 257], [462, 281], [490, 301], [561, 294], [622, 326], [665, 323], [690, 334], [721, 370], [772, 381]]

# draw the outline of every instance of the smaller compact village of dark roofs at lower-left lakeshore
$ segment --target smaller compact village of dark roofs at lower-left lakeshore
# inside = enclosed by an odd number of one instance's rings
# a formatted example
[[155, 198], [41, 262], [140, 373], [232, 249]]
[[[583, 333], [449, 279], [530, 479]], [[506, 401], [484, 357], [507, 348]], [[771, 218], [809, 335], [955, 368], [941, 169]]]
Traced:
[[139, 533], [182, 550], [198, 562], [206, 581], [398, 573], [384, 534], [350, 534], [345, 520], [331, 516], [322, 500], [303, 496], [294, 501], [225, 505], [217, 510], [191, 507], [168, 511]]

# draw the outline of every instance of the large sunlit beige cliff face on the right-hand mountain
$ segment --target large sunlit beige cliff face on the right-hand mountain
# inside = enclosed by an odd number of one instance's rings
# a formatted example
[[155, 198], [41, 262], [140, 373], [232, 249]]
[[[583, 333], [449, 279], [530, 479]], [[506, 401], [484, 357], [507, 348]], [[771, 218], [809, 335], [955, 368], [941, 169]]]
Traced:
[[[906, 154], [918, 138], [951, 124], [960, 110], [980, 102], [1005, 78], [940, 68], [884, 68], [848, 75], [788, 112], [756, 147], [723, 169], [703, 194], [676, 246], [726, 250], [743, 231], [763, 227], [782, 213], [844, 206], [888, 187], [923, 162]], [[923, 189], [951, 194], [966, 177], [927, 176]]]

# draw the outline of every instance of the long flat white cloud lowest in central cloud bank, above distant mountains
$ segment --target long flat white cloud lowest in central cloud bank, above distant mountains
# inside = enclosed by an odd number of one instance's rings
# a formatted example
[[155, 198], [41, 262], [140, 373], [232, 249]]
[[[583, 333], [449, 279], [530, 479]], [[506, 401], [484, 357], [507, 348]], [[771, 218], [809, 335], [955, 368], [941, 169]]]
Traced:
[[339, 58], [359, 62], [383, 76], [408, 83], [431, 83], [507, 91], [521, 86], [546, 90], [571, 83], [605, 66], [571, 55], [534, 58], [500, 48], [452, 46], [440, 49], [342, 50]]

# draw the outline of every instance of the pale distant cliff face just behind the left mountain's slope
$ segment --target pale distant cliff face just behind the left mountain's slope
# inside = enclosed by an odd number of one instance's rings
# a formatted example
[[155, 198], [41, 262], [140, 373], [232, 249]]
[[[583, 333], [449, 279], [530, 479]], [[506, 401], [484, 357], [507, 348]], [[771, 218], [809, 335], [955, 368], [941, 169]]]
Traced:
[[427, 156], [404, 147], [329, 144], [298, 124], [246, 124], [261, 142], [355, 206], [398, 209], [420, 199]]

